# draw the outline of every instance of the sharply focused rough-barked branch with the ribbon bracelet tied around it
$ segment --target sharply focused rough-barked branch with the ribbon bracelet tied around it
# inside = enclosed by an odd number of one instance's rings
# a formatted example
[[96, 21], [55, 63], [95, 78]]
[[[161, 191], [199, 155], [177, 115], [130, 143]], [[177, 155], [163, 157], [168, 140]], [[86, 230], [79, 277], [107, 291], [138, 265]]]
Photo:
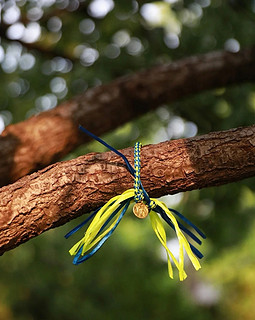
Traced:
[[[133, 148], [122, 150], [133, 163]], [[255, 126], [147, 145], [141, 178], [153, 197], [255, 176]], [[0, 189], [0, 254], [133, 186], [123, 160], [91, 153]]]

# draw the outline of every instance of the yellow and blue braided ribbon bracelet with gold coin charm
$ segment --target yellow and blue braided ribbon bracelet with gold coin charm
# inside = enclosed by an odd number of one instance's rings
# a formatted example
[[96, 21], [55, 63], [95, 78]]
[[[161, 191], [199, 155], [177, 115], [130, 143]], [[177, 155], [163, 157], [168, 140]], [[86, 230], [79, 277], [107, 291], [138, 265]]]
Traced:
[[[192, 262], [196, 270], [200, 269], [200, 263], [198, 259], [203, 257], [202, 253], [194, 247], [185, 237], [184, 233], [194, 240], [198, 245], [201, 245], [199, 235], [205, 238], [203, 232], [201, 232], [192, 222], [185, 218], [181, 213], [174, 209], [167, 208], [167, 206], [158, 199], [150, 198], [145, 191], [141, 179], [141, 144], [137, 142], [134, 148], [134, 167], [133, 168], [128, 159], [118, 150], [107, 144], [105, 141], [89, 132], [84, 127], [80, 126], [80, 130], [91, 136], [93, 139], [102, 143], [104, 146], [119, 155], [125, 162], [127, 170], [134, 176], [134, 188], [126, 190], [121, 195], [111, 198], [104, 206], [95, 210], [84, 222], [79, 224], [76, 228], [71, 230], [65, 235], [69, 238], [72, 234], [81, 229], [84, 225], [90, 222], [84, 237], [78, 241], [69, 251], [74, 256], [73, 263], [78, 265], [90, 257], [92, 257], [105, 243], [105, 241], [112, 235], [113, 231], [117, 228], [121, 219], [127, 212], [130, 204], [134, 203], [133, 213], [138, 218], [146, 218], [148, 215], [151, 220], [152, 228], [158, 237], [159, 241], [163, 245], [167, 253], [168, 261], [168, 273], [170, 278], [173, 278], [172, 263], [179, 270], [180, 280], [184, 280], [187, 275], [184, 271], [184, 252], [186, 252], [190, 261]], [[177, 221], [176, 217], [182, 222]], [[177, 239], [179, 241], [179, 258], [176, 259], [173, 253], [167, 246], [166, 232], [161, 221], [161, 218], [175, 231]], [[185, 227], [183, 222], [191, 228]], [[197, 235], [194, 233], [197, 233]], [[171, 263], [172, 261], [172, 263]]]

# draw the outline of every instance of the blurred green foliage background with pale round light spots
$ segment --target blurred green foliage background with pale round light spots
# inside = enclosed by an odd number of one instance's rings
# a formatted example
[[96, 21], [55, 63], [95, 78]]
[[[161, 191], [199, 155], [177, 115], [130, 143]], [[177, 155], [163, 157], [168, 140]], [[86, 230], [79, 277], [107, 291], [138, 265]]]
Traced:
[[[119, 76], [255, 43], [254, 0], [0, 3], [0, 132]], [[104, 139], [124, 148], [250, 125], [254, 89], [218, 88], [163, 105]], [[65, 159], [92, 151], [105, 149], [91, 142]], [[1, 257], [0, 319], [255, 319], [254, 190], [247, 179], [163, 197], [207, 234], [202, 269], [187, 265], [182, 283], [177, 273], [168, 278], [147, 220], [126, 215], [78, 267], [68, 254], [75, 239], [64, 235], [84, 217], [46, 232]]]

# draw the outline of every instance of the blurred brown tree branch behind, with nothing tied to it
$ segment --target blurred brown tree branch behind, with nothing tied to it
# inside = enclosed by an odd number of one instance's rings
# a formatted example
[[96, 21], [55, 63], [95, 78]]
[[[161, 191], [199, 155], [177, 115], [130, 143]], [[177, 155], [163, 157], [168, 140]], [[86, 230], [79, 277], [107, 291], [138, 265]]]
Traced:
[[79, 123], [100, 135], [163, 103], [254, 80], [255, 49], [247, 49], [186, 58], [90, 89], [5, 129], [0, 136], [0, 186], [55, 162], [84, 142]]

